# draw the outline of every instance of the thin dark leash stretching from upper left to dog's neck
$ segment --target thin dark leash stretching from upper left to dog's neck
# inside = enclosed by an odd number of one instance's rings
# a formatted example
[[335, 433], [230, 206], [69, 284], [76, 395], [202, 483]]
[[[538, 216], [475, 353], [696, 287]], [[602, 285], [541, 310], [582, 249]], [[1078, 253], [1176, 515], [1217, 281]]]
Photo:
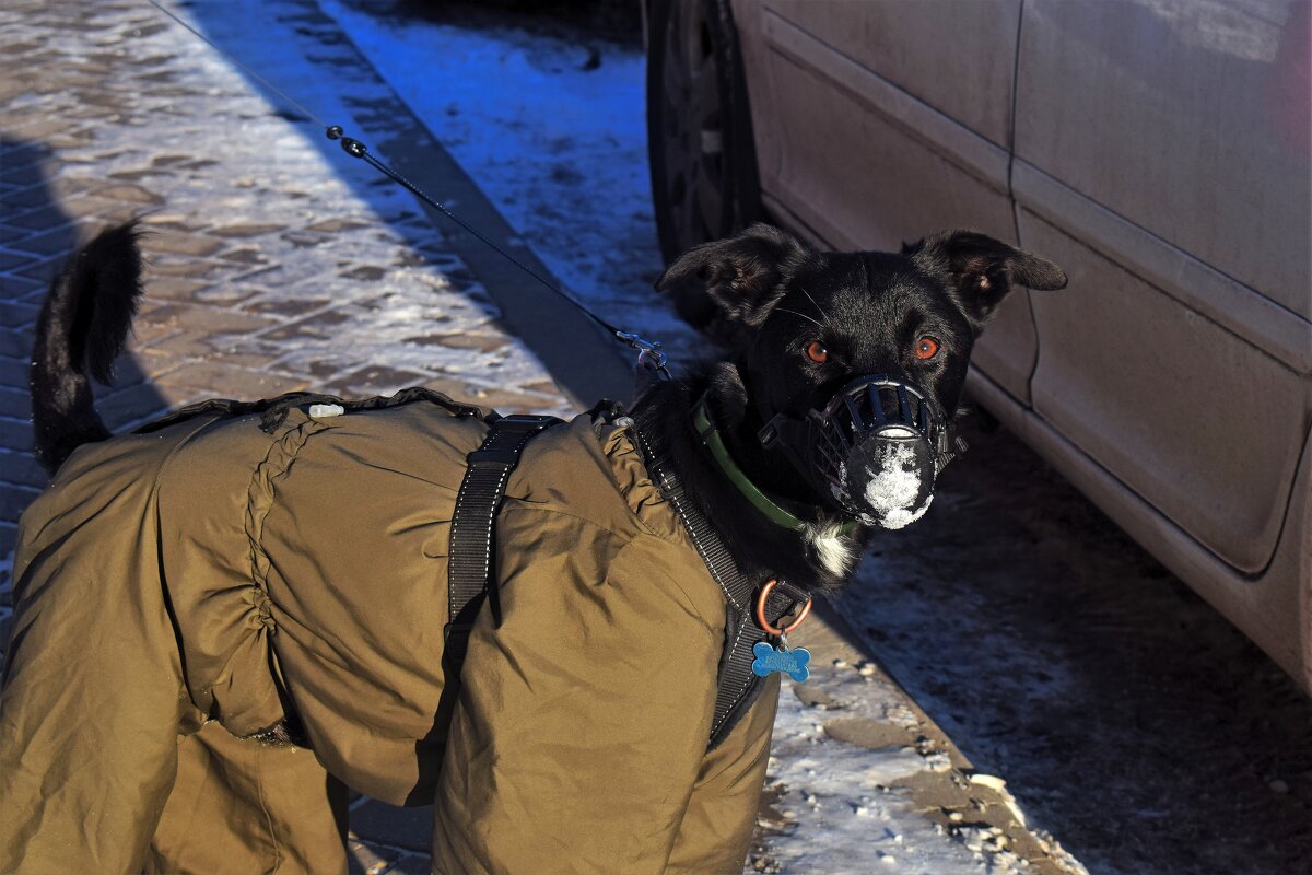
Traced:
[[491, 247], [493, 252], [496, 252], [497, 254], [500, 254], [502, 258], [505, 258], [506, 261], [509, 261], [510, 264], [513, 264], [516, 268], [518, 268], [520, 270], [522, 270], [525, 274], [527, 274], [533, 279], [538, 281], [548, 291], [554, 293], [556, 296], [564, 299], [565, 302], [573, 304], [580, 312], [583, 312], [585, 316], [588, 316], [594, 323], [597, 323], [597, 325], [600, 325], [607, 335], [610, 335], [611, 337], [614, 337], [615, 340], [618, 340], [625, 346], [628, 346], [630, 349], [635, 350], [638, 353], [638, 365], [639, 365], [639, 370], [640, 371], [642, 370], [655, 371], [661, 379], [669, 379], [670, 374], [669, 374], [669, 367], [666, 366], [668, 357], [661, 350], [661, 345], [660, 345], [659, 341], [647, 340], [647, 338], [642, 337], [640, 335], [638, 335], [636, 332], [623, 331], [622, 328], [618, 328], [618, 327], [610, 324], [609, 321], [606, 321], [605, 319], [602, 319], [601, 316], [598, 316], [597, 314], [594, 314], [592, 310], [589, 310], [581, 300], [579, 300], [577, 298], [575, 298], [573, 295], [571, 295], [569, 293], [567, 293], [564, 290], [564, 287], [562, 287], [558, 283], [554, 283], [554, 282], [548, 281], [546, 277], [543, 277], [542, 274], [539, 274], [537, 270], [534, 270], [529, 265], [523, 264], [521, 260], [516, 258], [513, 254], [510, 254], [502, 247], [500, 247], [495, 240], [489, 239], [487, 235], [484, 235], [478, 228], [475, 228], [474, 226], [471, 226], [470, 223], [467, 223], [464, 219], [462, 219], [461, 216], [458, 216], [455, 213], [453, 213], [446, 205], [443, 205], [443, 203], [433, 199], [422, 189], [420, 189], [417, 185], [415, 185], [413, 182], [411, 182], [409, 180], [407, 180], [404, 176], [401, 176], [395, 169], [392, 169], [391, 167], [388, 167], [386, 163], [380, 161], [377, 156], [374, 156], [373, 152], [369, 151], [369, 147], [365, 146], [362, 142], [359, 142], [358, 139], [356, 139], [353, 136], [346, 136], [345, 135], [345, 130], [342, 129], [341, 125], [327, 125], [327, 123], [324, 123], [324, 121], [321, 118], [319, 118], [316, 114], [314, 114], [312, 112], [310, 112], [304, 105], [302, 105], [300, 102], [298, 102], [297, 100], [294, 100], [285, 91], [282, 91], [281, 88], [278, 88], [277, 85], [274, 85], [273, 83], [270, 83], [268, 79], [265, 79], [264, 76], [261, 76], [258, 72], [256, 72], [255, 70], [252, 70], [247, 64], [241, 63], [240, 60], [237, 60], [232, 55], [230, 55], [222, 47], [219, 47], [218, 45], [215, 45], [203, 33], [201, 33], [199, 30], [197, 30], [195, 28], [193, 28], [190, 24], [188, 24], [186, 21], [184, 21], [181, 17], [178, 17], [176, 13], [173, 13], [173, 10], [163, 7], [157, 0], [146, 0], [146, 1], [150, 3], [152, 7], [155, 7], [156, 9], [159, 9], [160, 12], [163, 12], [165, 16], [168, 16], [173, 21], [176, 21], [177, 24], [180, 24], [184, 29], [186, 29], [188, 31], [190, 31], [192, 35], [194, 35], [197, 39], [199, 39], [205, 45], [207, 45], [211, 49], [214, 49], [214, 51], [219, 52], [219, 55], [222, 55], [230, 63], [240, 67], [248, 76], [251, 76], [252, 79], [255, 79], [256, 81], [258, 81], [261, 85], [264, 85], [265, 88], [268, 88], [270, 92], [273, 92], [278, 97], [281, 97], [290, 106], [294, 106], [306, 118], [312, 119], [315, 123], [320, 125], [324, 129], [324, 132], [327, 134], [328, 139], [331, 139], [331, 140], [338, 140], [341, 143], [341, 148], [342, 148], [344, 152], [346, 152], [346, 155], [350, 155], [352, 157], [356, 157], [356, 159], [359, 159], [359, 160], [365, 161], [366, 164], [369, 164], [370, 167], [373, 167], [375, 171], [378, 171], [383, 176], [388, 177], [390, 180], [392, 180], [394, 182], [396, 182], [398, 185], [400, 185], [401, 188], [404, 188], [405, 190], [408, 190], [411, 194], [413, 194], [415, 197], [417, 197], [420, 201], [422, 201], [424, 203], [429, 205], [430, 207], [433, 207], [434, 210], [437, 210], [438, 213], [441, 213], [442, 215], [445, 215], [447, 219], [450, 219], [455, 224], [458, 224], [462, 228], [464, 228], [466, 231], [468, 231], [471, 235], [474, 235], [475, 237], [478, 237], [485, 245]]

